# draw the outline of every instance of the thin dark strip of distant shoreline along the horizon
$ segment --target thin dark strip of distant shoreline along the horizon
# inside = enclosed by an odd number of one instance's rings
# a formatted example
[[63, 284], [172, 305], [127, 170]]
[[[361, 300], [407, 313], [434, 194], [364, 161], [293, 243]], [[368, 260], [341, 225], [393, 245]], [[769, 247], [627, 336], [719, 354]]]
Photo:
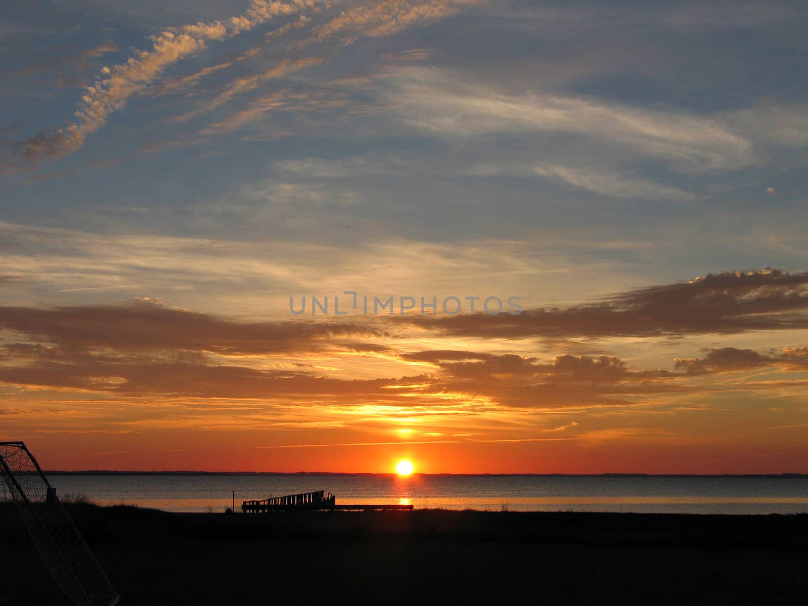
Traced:
[[[333, 471], [85, 471], [44, 470], [52, 476], [391, 476], [395, 473]], [[808, 473], [415, 473], [427, 478], [808, 478]]]

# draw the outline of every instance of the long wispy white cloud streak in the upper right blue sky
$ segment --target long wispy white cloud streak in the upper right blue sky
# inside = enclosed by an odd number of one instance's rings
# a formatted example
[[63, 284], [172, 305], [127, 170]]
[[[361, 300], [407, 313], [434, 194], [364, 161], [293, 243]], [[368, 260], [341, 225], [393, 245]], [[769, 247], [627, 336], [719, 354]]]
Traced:
[[734, 169], [754, 161], [752, 141], [720, 120], [584, 97], [509, 95], [448, 69], [398, 68], [379, 82], [380, 94], [400, 120], [438, 137], [568, 133], [688, 171]]

